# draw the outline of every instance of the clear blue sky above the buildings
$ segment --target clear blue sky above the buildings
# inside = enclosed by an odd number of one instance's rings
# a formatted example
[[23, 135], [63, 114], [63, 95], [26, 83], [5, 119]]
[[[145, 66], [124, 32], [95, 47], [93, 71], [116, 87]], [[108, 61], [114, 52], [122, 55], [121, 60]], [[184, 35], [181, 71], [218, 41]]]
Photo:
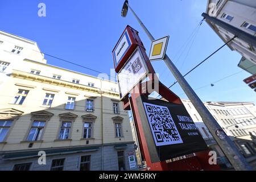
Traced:
[[[46, 4], [46, 17], [38, 16], [40, 2]], [[224, 44], [206, 22], [196, 28], [205, 12], [206, 0], [130, 0], [129, 4], [155, 38], [170, 35], [167, 54], [183, 74]], [[0, 30], [34, 40], [42, 52], [110, 74], [114, 67], [112, 50], [127, 24], [139, 31], [147, 53], [150, 49], [150, 40], [131, 12], [126, 18], [121, 17], [122, 5], [123, 0], [1, 1]], [[179, 51], [187, 40], [191, 41]], [[46, 59], [48, 64], [98, 75], [52, 57]], [[254, 90], [242, 81], [250, 74], [240, 72], [240, 59], [239, 53], [222, 48], [185, 78], [202, 101], [256, 102]], [[152, 64], [165, 85], [175, 81], [163, 61]], [[210, 86], [237, 72], [240, 73]], [[187, 98], [178, 84], [172, 91]]]

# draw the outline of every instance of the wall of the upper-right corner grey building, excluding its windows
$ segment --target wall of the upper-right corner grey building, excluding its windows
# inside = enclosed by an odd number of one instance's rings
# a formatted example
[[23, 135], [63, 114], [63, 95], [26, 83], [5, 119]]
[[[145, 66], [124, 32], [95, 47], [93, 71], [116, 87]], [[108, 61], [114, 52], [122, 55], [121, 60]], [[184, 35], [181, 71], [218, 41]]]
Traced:
[[[222, 20], [222, 22], [228, 23], [250, 35], [256, 35], [255, 31], [249, 30], [248, 28], [243, 27], [243, 23], [247, 22], [256, 26], [256, 2], [253, 0], [209, 0], [207, 5], [207, 13], [211, 15], [212, 9], [210, 8], [210, 3], [215, 3], [217, 6], [216, 16], [217, 19]], [[228, 14], [233, 16], [232, 20], [227, 20], [222, 17], [222, 15]], [[218, 36], [224, 42], [228, 42], [233, 38], [233, 34], [229, 31], [226, 31], [224, 28], [217, 26], [214, 23], [211, 23], [207, 20], [210, 27], [216, 32]], [[228, 45], [232, 50], [238, 51], [242, 56], [247, 60], [256, 64], [256, 52], [255, 46], [252, 46], [250, 43], [243, 41], [240, 38], [234, 39]]]

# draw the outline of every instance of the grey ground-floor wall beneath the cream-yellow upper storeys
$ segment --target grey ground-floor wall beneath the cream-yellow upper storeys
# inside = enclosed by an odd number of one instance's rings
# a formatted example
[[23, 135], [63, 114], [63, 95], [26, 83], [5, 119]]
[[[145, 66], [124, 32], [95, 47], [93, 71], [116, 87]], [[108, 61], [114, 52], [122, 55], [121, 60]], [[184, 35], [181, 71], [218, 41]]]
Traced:
[[[91, 171], [101, 171], [102, 170], [102, 147], [99, 150], [92, 152], [80, 152], [76, 154], [62, 154], [46, 156], [46, 164], [39, 164], [38, 158], [26, 158], [19, 160], [1, 160], [0, 156], [0, 171], [12, 171], [15, 164], [32, 163], [31, 171], [49, 171], [51, 169], [51, 164], [53, 159], [65, 159], [64, 160], [64, 171], [79, 171], [81, 156], [90, 156], [90, 170]], [[127, 148], [124, 150], [125, 155], [125, 167], [129, 170], [129, 159], [127, 152], [133, 151], [133, 143], [127, 144]], [[118, 171], [118, 156], [117, 150], [115, 150], [114, 145], [110, 144], [104, 146], [104, 170], [105, 171]], [[136, 169], [133, 169], [136, 170]]]

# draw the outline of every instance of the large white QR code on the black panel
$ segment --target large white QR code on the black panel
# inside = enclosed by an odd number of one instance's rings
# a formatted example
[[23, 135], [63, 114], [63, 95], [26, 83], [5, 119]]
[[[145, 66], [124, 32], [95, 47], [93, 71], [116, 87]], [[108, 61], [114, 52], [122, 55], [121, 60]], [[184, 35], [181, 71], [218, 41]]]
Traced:
[[166, 106], [143, 103], [156, 146], [183, 143]]

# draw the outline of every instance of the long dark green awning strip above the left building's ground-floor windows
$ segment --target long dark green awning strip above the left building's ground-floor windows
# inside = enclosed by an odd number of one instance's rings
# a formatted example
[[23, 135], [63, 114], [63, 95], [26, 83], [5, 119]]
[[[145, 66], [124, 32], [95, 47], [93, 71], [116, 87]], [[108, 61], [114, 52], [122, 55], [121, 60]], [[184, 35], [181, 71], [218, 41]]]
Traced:
[[14, 159], [24, 159], [38, 157], [39, 151], [45, 151], [46, 155], [64, 155], [73, 154], [78, 152], [90, 152], [96, 151], [99, 147], [73, 147], [73, 148], [57, 148], [48, 150], [36, 150], [36, 151], [25, 151], [25, 152], [11, 152], [3, 154], [3, 160], [14, 160]]

